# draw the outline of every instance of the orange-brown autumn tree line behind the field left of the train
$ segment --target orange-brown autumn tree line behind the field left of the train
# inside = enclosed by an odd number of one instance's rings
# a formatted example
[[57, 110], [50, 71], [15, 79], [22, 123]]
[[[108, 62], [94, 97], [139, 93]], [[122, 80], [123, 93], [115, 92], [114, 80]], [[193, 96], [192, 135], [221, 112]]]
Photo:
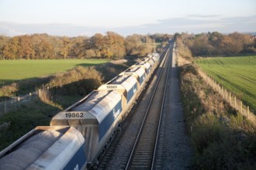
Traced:
[[156, 49], [156, 42], [164, 46], [169, 39], [171, 35], [168, 34], [123, 37], [116, 32], [106, 32], [106, 35], [96, 33], [92, 37], [47, 34], [0, 36], [0, 59], [120, 59], [123, 56], [146, 56]]

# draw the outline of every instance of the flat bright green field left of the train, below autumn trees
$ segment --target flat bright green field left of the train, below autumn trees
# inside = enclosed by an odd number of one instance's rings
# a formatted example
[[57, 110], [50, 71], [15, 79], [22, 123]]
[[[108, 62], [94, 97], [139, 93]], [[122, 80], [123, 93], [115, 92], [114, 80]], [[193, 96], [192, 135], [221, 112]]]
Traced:
[[107, 62], [109, 59], [0, 60], [0, 84], [48, 76], [74, 66], [95, 66]]

